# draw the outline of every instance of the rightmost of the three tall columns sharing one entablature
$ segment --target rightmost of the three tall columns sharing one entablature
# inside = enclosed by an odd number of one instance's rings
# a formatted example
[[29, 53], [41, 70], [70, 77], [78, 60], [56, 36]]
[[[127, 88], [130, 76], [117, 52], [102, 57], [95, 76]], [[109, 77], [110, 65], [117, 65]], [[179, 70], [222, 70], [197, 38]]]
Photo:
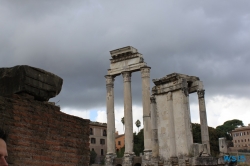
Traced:
[[144, 152], [151, 152], [151, 120], [150, 120], [150, 67], [141, 68], [142, 77], [142, 103], [144, 125]]

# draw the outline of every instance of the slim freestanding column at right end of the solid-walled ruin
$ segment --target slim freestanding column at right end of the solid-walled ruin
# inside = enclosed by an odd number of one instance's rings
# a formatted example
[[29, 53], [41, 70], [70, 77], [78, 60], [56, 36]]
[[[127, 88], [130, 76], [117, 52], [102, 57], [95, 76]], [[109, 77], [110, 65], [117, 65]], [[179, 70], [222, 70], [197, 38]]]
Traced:
[[201, 140], [202, 144], [207, 144], [207, 153], [210, 154], [210, 143], [209, 143], [209, 134], [208, 134], [208, 125], [207, 125], [207, 113], [205, 106], [205, 90], [201, 89], [197, 91], [199, 99], [199, 110], [200, 110], [200, 123], [201, 123]]

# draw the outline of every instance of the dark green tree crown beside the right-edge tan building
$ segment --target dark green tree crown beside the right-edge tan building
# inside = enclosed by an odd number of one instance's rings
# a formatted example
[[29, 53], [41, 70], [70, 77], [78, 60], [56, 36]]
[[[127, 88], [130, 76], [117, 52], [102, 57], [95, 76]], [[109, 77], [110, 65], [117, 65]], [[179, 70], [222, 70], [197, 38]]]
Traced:
[[237, 127], [244, 126], [243, 122], [238, 119], [228, 120], [223, 123], [223, 125], [217, 126], [216, 130], [220, 132], [221, 137], [226, 137], [227, 140], [232, 140], [233, 138], [229, 135], [229, 133]]

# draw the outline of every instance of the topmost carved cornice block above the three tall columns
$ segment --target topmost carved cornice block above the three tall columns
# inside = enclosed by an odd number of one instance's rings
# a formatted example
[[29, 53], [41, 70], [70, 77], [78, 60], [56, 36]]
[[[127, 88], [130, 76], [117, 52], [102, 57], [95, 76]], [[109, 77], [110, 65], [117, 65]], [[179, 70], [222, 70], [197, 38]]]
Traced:
[[110, 55], [113, 59], [118, 58], [119, 56], [126, 56], [138, 53], [137, 49], [132, 46], [118, 48], [116, 50], [110, 51]]

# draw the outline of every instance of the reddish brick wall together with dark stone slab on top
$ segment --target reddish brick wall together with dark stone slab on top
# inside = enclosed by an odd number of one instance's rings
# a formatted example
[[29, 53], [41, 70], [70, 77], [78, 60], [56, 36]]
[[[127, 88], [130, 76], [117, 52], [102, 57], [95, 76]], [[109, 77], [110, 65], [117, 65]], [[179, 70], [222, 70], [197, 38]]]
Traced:
[[89, 165], [89, 120], [47, 102], [62, 79], [30, 66], [0, 68], [0, 127], [8, 133], [8, 163]]

